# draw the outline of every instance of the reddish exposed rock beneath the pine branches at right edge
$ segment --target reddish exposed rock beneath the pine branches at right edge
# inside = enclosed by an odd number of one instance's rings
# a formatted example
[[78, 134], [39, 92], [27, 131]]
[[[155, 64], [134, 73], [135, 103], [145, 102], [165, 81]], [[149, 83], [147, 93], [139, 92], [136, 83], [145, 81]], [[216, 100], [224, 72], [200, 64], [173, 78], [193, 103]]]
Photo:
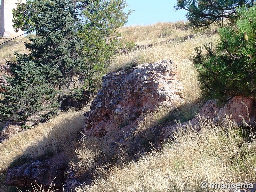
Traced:
[[[217, 106], [216, 100], [207, 101], [203, 108], [200, 110], [199, 115], [209, 120], [212, 120], [214, 124], [221, 122], [227, 114], [228, 116], [232, 115], [232, 120], [236, 122], [236, 124], [242, 124], [242, 118], [247, 124], [255, 125], [256, 121], [256, 100], [253, 97], [243, 97], [236, 96], [226, 103], [223, 107]], [[249, 115], [249, 116], [248, 116]], [[199, 117], [195, 116], [189, 122], [184, 122], [181, 126], [186, 126], [191, 124], [196, 129], [198, 129]], [[178, 124], [174, 124], [172, 126], [168, 126], [162, 129], [160, 133], [161, 138], [167, 138], [175, 131], [178, 127]]]

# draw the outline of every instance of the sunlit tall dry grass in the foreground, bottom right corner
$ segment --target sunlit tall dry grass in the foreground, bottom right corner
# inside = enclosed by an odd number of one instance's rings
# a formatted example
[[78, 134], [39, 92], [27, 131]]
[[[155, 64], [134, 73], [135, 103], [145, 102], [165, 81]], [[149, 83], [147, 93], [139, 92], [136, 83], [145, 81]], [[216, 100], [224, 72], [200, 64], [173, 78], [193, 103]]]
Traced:
[[242, 128], [226, 119], [214, 125], [201, 117], [201, 132], [190, 126], [175, 134], [175, 142], [153, 150], [138, 162], [113, 168], [105, 180], [76, 188], [85, 191], [213, 191], [208, 183], [255, 182], [256, 142], [248, 142]]

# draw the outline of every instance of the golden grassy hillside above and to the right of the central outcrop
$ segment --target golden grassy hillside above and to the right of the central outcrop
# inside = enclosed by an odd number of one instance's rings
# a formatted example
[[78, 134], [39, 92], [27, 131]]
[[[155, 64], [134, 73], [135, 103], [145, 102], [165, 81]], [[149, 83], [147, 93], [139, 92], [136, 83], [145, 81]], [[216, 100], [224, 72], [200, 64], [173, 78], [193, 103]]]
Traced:
[[[170, 27], [174, 31], [164, 38], [154, 39], [154, 36], [161, 36], [164, 27]], [[134, 29], [135, 31], [130, 31]], [[155, 30], [155, 31], [153, 31]], [[175, 37], [188, 36], [193, 34], [192, 31], [186, 29], [186, 23], [157, 23], [152, 26], [131, 26], [120, 28], [124, 39], [133, 39], [134, 34], [141, 34], [136, 36], [136, 42], [144, 42], [144, 35], [149, 31], [152, 40], [148, 40], [147, 43], [162, 42], [164, 40], [169, 40]], [[194, 69], [192, 62], [189, 57], [195, 53], [194, 48], [196, 46], [203, 45], [207, 42], [212, 41], [213, 44], [216, 42], [218, 36], [207, 36], [207, 35], [195, 35], [194, 38], [188, 39], [186, 41], [172, 41], [171, 43], [156, 44], [150, 48], [141, 48], [137, 50], [132, 50], [129, 53], [119, 53], [112, 57], [109, 70], [117, 71], [120, 69], [131, 68], [133, 66], [139, 65], [141, 63], [154, 63], [161, 60], [170, 59], [178, 65], [178, 70], [180, 71], [180, 81], [183, 84], [183, 95], [186, 100], [186, 104], [180, 103], [177, 105], [182, 105], [184, 108], [183, 117], [188, 120], [191, 119], [195, 112], [200, 108], [200, 101], [202, 95], [201, 90], [198, 86], [197, 72]], [[139, 43], [140, 44], [140, 43]], [[195, 104], [196, 103], [196, 104]]]

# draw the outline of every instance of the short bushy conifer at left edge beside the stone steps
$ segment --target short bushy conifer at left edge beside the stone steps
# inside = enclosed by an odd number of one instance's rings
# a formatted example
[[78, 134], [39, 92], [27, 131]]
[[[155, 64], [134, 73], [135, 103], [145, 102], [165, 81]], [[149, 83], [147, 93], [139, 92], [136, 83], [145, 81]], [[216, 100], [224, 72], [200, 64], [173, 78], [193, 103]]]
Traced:
[[[28, 55], [16, 53], [18, 62], [8, 62], [12, 77], [7, 78], [9, 85], [1, 92], [0, 121], [11, 119], [22, 121], [38, 110], [52, 109], [52, 98], [56, 92], [46, 81], [44, 67], [38, 68]], [[42, 105], [44, 103], [44, 106]]]

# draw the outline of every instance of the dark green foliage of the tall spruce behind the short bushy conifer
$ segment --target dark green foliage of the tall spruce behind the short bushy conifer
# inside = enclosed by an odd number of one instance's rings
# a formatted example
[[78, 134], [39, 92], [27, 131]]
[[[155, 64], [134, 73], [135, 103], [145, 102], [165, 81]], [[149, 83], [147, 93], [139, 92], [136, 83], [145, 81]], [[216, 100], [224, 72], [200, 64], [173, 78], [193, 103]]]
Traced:
[[68, 86], [75, 75], [75, 66], [79, 65], [76, 50], [81, 46], [76, 29], [78, 19], [69, 13], [75, 4], [71, 0], [38, 0], [36, 6], [40, 14], [31, 19], [35, 27], [55, 20], [36, 29], [36, 37], [30, 37], [32, 42], [26, 43], [26, 48], [31, 50], [31, 59], [44, 67], [49, 83], [57, 87]]

